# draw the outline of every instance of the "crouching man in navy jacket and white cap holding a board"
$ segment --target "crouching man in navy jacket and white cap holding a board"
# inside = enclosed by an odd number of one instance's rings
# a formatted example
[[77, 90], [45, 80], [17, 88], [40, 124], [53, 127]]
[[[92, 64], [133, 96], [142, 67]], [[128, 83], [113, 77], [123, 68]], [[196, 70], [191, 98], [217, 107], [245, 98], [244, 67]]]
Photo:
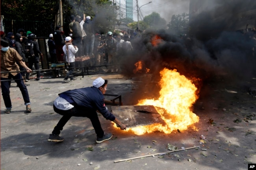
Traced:
[[93, 81], [93, 86], [65, 91], [59, 94], [54, 101], [54, 111], [63, 115], [54, 130], [50, 134], [48, 141], [61, 142], [64, 139], [59, 136], [60, 131], [72, 116], [88, 117], [91, 120], [95, 133], [97, 135], [96, 143], [102, 143], [111, 139], [111, 133], [105, 133], [100, 125], [96, 110], [100, 112], [107, 120], [113, 121], [121, 130], [126, 130], [113, 113], [109, 112], [104, 103], [104, 94], [107, 90], [108, 80], [98, 77]]

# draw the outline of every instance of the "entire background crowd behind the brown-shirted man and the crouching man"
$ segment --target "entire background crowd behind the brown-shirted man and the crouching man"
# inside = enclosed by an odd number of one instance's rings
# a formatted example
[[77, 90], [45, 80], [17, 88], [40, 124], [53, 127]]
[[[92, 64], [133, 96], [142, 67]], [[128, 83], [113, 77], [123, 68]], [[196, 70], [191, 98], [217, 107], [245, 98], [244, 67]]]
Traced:
[[[65, 59], [66, 51], [63, 50], [64, 46], [71, 44], [76, 47], [74, 53], [74, 60], [77, 57], [89, 56], [93, 66], [113, 65], [119, 64], [119, 57], [122, 53], [132, 51], [132, 44], [130, 42], [130, 35], [124, 33], [115, 33], [115, 31], [109, 31], [107, 34], [102, 34], [95, 31], [95, 23], [91, 16], [79, 16], [71, 15], [69, 24], [69, 33], [65, 34], [61, 31], [61, 26], [56, 26], [55, 30], [50, 33], [48, 38], [48, 49], [50, 54], [51, 63], [66, 63], [69, 68], [74, 67], [73, 62], [67, 62]], [[65, 41], [66, 35], [71, 38], [68, 42]], [[9, 40], [9, 47], [18, 51], [19, 55], [23, 58], [26, 66], [30, 69], [36, 70], [37, 77], [35, 80], [41, 80], [39, 62], [43, 53], [39, 49], [37, 37], [31, 31], [25, 31], [24, 29], [18, 29], [17, 33], [9, 32], [7, 35], [1, 31], [1, 37], [6, 37]], [[69, 39], [69, 38], [68, 38]], [[69, 53], [69, 56], [71, 53]], [[48, 57], [49, 58], [49, 57]], [[67, 65], [69, 63], [69, 65]], [[70, 65], [71, 63], [71, 65]], [[17, 62], [19, 65], [19, 62]], [[24, 68], [20, 66], [20, 71], [24, 71]], [[95, 67], [96, 73], [109, 73], [117, 71], [117, 67], [108, 66], [108, 69], [104, 71], [102, 67]], [[70, 79], [72, 79], [73, 69], [68, 69], [70, 73]], [[120, 71], [120, 70], [119, 70]], [[30, 73], [21, 72], [24, 82], [30, 81]], [[65, 82], [67, 81], [65, 77]], [[28, 84], [25, 83], [26, 86]]]

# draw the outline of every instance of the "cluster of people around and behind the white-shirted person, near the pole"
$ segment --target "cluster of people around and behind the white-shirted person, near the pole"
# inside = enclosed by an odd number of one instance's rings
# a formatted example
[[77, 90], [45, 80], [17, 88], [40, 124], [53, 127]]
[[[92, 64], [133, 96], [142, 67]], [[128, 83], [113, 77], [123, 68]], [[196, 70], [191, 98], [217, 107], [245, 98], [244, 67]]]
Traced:
[[[102, 64], [117, 64], [118, 54], [121, 51], [132, 51], [132, 44], [129, 41], [130, 35], [122, 33], [113, 33], [109, 31], [107, 34], [101, 34], [95, 31], [95, 23], [91, 16], [83, 17], [79, 15], [70, 16], [69, 36], [72, 45], [76, 46], [78, 51], [74, 53], [75, 57], [89, 56], [94, 66]], [[63, 46], [67, 44], [65, 34], [61, 31], [60, 26], [56, 26], [54, 33], [49, 35], [48, 47], [52, 62], [67, 62], [64, 58], [65, 50]], [[50, 45], [49, 45], [50, 44]], [[54, 48], [55, 44], [55, 48]], [[123, 45], [124, 44], [124, 45]], [[55, 52], [56, 51], [56, 52]], [[56, 56], [56, 57], [55, 57]], [[108, 72], [113, 72], [113, 67], [108, 67]], [[103, 73], [103, 69], [96, 67], [97, 73]], [[66, 81], [66, 79], [64, 79]]]

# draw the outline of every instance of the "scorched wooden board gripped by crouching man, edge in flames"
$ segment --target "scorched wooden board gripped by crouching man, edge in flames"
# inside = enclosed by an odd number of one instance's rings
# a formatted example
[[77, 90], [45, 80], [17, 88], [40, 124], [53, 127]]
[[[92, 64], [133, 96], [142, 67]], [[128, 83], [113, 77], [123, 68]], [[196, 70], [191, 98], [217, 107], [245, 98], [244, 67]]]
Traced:
[[154, 106], [112, 106], [112, 112], [127, 128], [165, 124]]

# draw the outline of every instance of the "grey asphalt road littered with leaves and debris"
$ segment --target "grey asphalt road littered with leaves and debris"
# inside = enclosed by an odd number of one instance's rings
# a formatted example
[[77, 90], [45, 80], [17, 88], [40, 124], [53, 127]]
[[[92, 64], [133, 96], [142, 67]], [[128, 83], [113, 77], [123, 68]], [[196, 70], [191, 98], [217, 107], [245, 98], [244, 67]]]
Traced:
[[[242, 88], [228, 86], [226, 82], [204, 86], [193, 108], [200, 117], [196, 130], [191, 127], [181, 133], [134, 135], [115, 129], [99, 115], [102, 128], [113, 133], [113, 138], [96, 144], [89, 119], [72, 117], [60, 134], [64, 141], [48, 142], [49, 134], [61, 118], [52, 108], [58, 93], [91, 86], [93, 76], [78, 76], [71, 83], [63, 83], [63, 78], [31, 80], [27, 83], [31, 113], [25, 113], [19, 88], [15, 82], [11, 83], [10, 114], [4, 114], [1, 96], [1, 170], [247, 170], [248, 163], [256, 163], [256, 98], [248, 93], [248, 87], [256, 86], [256, 79]], [[131, 105], [136, 90], [141, 90], [138, 82], [127, 77], [109, 79], [107, 92], [122, 95], [123, 104]], [[209, 122], [210, 119], [213, 121]], [[206, 143], [199, 142], [201, 135], [206, 137]], [[114, 163], [167, 152], [168, 144], [178, 149], [198, 145], [200, 148]]]

